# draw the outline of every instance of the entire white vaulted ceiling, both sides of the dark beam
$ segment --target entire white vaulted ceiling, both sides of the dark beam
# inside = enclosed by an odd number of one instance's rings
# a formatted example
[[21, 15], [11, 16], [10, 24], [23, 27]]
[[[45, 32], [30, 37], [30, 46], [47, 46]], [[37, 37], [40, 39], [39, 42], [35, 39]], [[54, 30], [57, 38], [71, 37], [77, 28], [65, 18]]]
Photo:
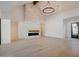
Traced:
[[[32, 3], [32, 1], [0, 1], [0, 8], [3, 11], [10, 11], [12, 8], [16, 6], [22, 6], [27, 3]], [[51, 5], [55, 6], [56, 11], [65, 11], [65, 10], [71, 10], [75, 8], [79, 8], [79, 1], [52, 1], [50, 2]], [[40, 4], [40, 3], [39, 3]], [[41, 6], [44, 4], [41, 4]]]

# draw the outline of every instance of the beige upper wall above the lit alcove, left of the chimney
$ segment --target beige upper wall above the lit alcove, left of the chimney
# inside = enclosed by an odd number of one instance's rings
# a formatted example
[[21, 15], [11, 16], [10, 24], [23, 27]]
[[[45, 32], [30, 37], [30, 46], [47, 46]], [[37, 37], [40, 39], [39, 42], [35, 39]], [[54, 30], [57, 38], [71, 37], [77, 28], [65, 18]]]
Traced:
[[24, 8], [23, 6], [17, 6], [11, 11], [12, 21], [23, 21], [24, 20]]

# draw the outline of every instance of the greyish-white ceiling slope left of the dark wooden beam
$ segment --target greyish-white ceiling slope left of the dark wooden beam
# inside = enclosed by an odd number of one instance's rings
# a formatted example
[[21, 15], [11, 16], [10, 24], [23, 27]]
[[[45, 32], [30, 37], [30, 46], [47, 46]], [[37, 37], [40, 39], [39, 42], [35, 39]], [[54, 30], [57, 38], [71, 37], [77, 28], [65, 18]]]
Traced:
[[24, 4], [30, 3], [29, 1], [0, 1], [0, 8], [3, 11], [12, 10], [16, 6], [22, 6]]

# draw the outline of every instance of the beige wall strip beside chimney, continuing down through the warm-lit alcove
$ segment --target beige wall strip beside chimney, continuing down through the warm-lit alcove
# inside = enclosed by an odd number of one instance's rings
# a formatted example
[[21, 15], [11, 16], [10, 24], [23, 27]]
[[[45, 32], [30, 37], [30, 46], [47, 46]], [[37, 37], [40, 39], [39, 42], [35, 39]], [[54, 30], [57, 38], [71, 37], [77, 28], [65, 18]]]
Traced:
[[11, 37], [12, 40], [17, 40], [20, 36], [18, 31], [18, 24], [20, 21], [24, 21], [24, 8], [23, 6], [16, 6], [12, 11], [11, 11], [11, 22], [12, 22], [12, 31], [11, 31]]

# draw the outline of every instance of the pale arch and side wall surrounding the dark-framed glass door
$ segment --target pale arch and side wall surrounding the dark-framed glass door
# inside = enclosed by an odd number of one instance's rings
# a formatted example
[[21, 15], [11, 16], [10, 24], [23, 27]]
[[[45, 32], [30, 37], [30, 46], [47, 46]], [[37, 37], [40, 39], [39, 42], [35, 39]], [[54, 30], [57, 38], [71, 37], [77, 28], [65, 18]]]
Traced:
[[65, 37], [71, 38], [71, 24], [79, 22], [79, 16], [69, 17], [64, 19], [64, 30], [65, 30]]

